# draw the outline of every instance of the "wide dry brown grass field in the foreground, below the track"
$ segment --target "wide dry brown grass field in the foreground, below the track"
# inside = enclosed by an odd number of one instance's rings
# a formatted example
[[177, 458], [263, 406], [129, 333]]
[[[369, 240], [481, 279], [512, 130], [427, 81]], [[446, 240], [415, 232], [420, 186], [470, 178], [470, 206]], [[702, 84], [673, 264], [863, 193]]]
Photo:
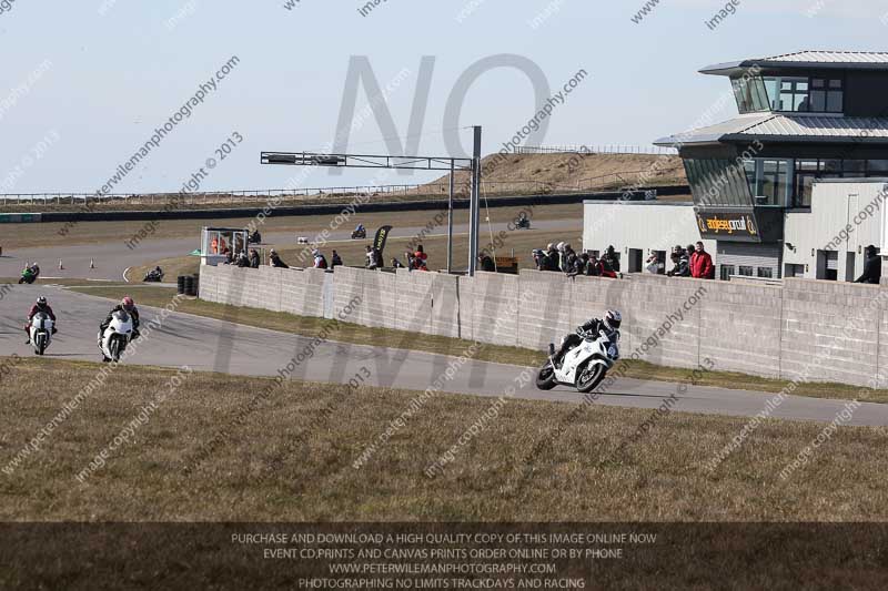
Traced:
[[[4, 397], [0, 458], [9, 461], [100, 369], [18, 360]], [[366, 463], [415, 393], [286, 381], [234, 422], [273, 380], [190, 374], [104, 466], [75, 479], [173, 370], [127, 366], [0, 475], [4, 521], [884, 521], [886, 429], [840, 428], [787, 480], [779, 477], [823, 428], [767, 420], [717, 470], [704, 463], [746, 419], [662, 417], [617, 452], [649, 410], [506, 399], [434, 478], [426, 468], [487, 411], [490, 399], [441, 394]], [[220, 429], [229, 437], [202, 461]], [[538, 441], [547, 439], [534, 455]], [[529, 458], [529, 461], [525, 461]], [[191, 470], [186, 470], [191, 467]], [[591, 492], [594, 491], [594, 492]]]

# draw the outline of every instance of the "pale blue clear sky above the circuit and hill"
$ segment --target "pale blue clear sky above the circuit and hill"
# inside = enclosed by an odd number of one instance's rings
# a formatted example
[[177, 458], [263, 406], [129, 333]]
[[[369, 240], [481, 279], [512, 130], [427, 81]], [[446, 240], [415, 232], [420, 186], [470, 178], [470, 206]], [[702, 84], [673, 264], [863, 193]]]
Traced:
[[[660, 0], [637, 24], [630, 18], [644, 0], [387, 0], [365, 17], [359, 8], [366, 0], [300, 0], [293, 10], [285, 2], [0, 3], [0, 182], [13, 193], [97, 191], [233, 55], [236, 68], [117, 192], [176, 191], [233, 132], [243, 142], [201, 188], [285, 186], [299, 171], [261, 166], [260, 152], [321, 149], [333, 140], [353, 55], [370, 59], [383, 86], [403, 78], [386, 104], [404, 135], [421, 59], [435, 57], [417, 151], [444, 155], [442, 128], [483, 125], [487, 153], [536, 111], [527, 77], [502, 68], [472, 85], [458, 122], [444, 121], [456, 80], [491, 55], [527, 58], [553, 92], [588, 72], [554, 110], [542, 143], [649, 145], [686, 129], [728, 89], [724, 79], [696, 73], [704, 65], [805, 49], [888, 50], [884, 0], [741, 0], [716, 30], [705, 21], [726, 3], [708, 0]], [[22, 93], [36, 70], [42, 72]], [[362, 88], [357, 112], [366, 104]], [[716, 119], [735, 113], [731, 102]], [[382, 136], [367, 119], [350, 151], [384, 153]], [[470, 132], [461, 137], [468, 150]], [[331, 176], [319, 169], [299, 184], [373, 179], [373, 171]]]

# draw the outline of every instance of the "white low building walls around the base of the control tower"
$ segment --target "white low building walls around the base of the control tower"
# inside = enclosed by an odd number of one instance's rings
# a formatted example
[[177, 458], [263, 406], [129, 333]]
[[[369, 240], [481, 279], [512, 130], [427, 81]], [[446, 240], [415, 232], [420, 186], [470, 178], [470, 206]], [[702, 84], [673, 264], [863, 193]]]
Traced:
[[[805, 277], [852, 282], [864, 273], [868, 245], [884, 247], [882, 217], [888, 207], [888, 179], [825, 179], [814, 182], [809, 210], [783, 215], [783, 240], [774, 244], [746, 243], [759, 230], [755, 222], [699, 213], [693, 203], [660, 201], [584, 202], [583, 248], [604, 251], [614, 245], [624, 272], [636, 273], [652, 253], [666, 261], [674, 245], [685, 246], [706, 236], [716, 277]], [[779, 220], [779, 218], [778, 218]], [[780, 223], [780, 222], [778, 222]], [[885, 251], [888, 252], [888, 251]]]

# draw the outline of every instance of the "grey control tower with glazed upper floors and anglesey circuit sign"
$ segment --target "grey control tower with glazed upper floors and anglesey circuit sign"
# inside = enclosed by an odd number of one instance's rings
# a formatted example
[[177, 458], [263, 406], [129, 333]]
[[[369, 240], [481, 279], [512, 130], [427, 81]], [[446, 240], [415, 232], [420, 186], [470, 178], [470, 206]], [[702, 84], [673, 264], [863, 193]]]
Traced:
[[[824, 255], [819, 266], [798, 251], [787, 253], [793, 240], [785, 231], [789, 217], [805, 223], [803, 214], [813, 213], [818, 181], [888, 176], [888, 53], [801, 51], [700, 73], [728, 79], [738, 116], [655, 143], [678, 150], [700, 233], [718, 242], [725, 272], [771, 268], [776, 278], [787, 257], [806, 265], [806, 276], [815, 268], [816, 276], [831, 277], [836, 256], [842, 268], [855, 267], [850, 251]], [[726, 232], [730, 226], [739, 231]], [[816, 273], [824, 263], [828, 273]]]

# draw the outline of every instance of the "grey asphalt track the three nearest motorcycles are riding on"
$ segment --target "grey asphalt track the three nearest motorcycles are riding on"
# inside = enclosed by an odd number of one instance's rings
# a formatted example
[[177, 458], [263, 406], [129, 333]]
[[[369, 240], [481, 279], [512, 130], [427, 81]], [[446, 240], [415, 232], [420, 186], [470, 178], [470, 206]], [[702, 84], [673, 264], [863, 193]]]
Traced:
[[[112, 303], [56, 286], [19, 286], [4, 291], [0, 299], [0, 356], [17, 354], [33, 356], [24, 345], [23, 318], [38, 294], [49, 297], [58, 318], [59, 334], [47, 351], [50, 358], [100, 361], [95, 344], [99, 323]], [[137, 295], [138, 297], [138, 295]], [[142, 323], [158, 317], [159, 309], [142, 308]], [[231, 318], [236, 320], [236, 318]], [[455, 357], [385, 346], [350, 345], [330, 340], [313, 348], [313, 338], [289, 333], [253, 328], [199, 316], [170, 313], [160, 328], [142, 340], [138, 353], [125, 364], [180, 367], [193, 370], [220, 371], [248, 376], [275, 376], [290, 364], [286, 377], [321, 383], [349, 383], [366, 376], [370, 386], [395, 387], [423, 391], [436, 378], [444, 376]], [[455, 355], [458, 355], [456, 351]], [[302, 358], [293, 364], [294, 358]], [[125, 365], [124, 364], [124, 365]], [[526, 368], [485, 361], [466, 361], [453, 378], [444, 380], [443, 391], [486, 397], [506, 395], [506, 388]], [[575, 390], [558, 387], [539, 391], [531, 379], [516, 388], [517, 398], [579, 403]], [[72, 395], [84, 385], [72, 385]], [[682, 391], [684, 390], [684, 391]], [[603, 393], [595, 405], [610, 405], [656, 409], [669, 397], [675, 397], [672, 410], [710, 415], [755, 416], [766, 408], [776, 395], [747, 390], [699, 387], [679, 384], [618, 379]], [[770, 417], [794, 420], [830, 422], [842, 411], [847, 400], [829, 400], [788, 396]], [[592, 410], [587, 410], [592, 411]], [[393, 417], [394, 418], [394, 417]], [[864, 403], [854, 412], [848, 425], [888, 426], [888, 405]]]

